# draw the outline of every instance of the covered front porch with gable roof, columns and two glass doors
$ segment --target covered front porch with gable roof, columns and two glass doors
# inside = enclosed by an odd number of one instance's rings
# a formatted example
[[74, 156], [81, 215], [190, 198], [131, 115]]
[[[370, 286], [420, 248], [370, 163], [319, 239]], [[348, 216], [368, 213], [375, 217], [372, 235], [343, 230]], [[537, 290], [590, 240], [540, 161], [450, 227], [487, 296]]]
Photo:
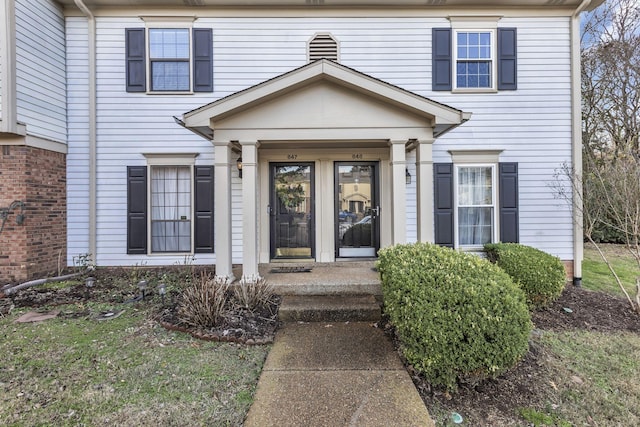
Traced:
[[[370, 282], [362, 286], [379, 287], [370, 259], [380, 247], [406, 242], [406, 153], [414, 149], [417, 153], [418, 240], [433, 241], [432, 144], [469, 117], [328, 60], [185, 113], [184, 126], [210, 139], [215, 150], [216, 275], [231, 281], [268, 275], [271, 283], [285, 275], [287, 282], [316, 289], [327, 282], [321, 276], [335, 277], [336, 283], [348, 277]], [[239, 191], [232, 185], [238, 157], [242, 159]], [[296, 229], [309, 233], [304, 240], [308, 247], [298, 252], [300, 256], [278, 251], [282, 223], [274, 220], [274, 211], [281, 203], [274, 196], [274, 175], [278, 167], [287, 170], [287, 166], [305, 167], [301, 175], [309, 176], [308, 183], [295, 183], [296, 188], [308, 187], [303, 198], [308, 206], [298, 212], [306, 222]], [[370, 177], [369, 196], [361, 194], [367, 188], [362, 182], [358, 188], [358, 180], [340, 181], [348, 176], [349, 167]], [[347, 188], [353, 196], [351, 205], [340, 198]], [[241, 200], [242, 208], [241, 229], [236, 230], [234, 198]], [[373, 230], [369, 252], [342, 250], [342, 211], [354, 215], [354, 222], [356, 218], [369, 222], [367, 229]], [[234, 248], [241, 251], [241, 269], [233, 269]], [[341, 275], [340, 265], [345, 263], [336, 261], [345, 260], [352, 261], [350, 271]], [[273, 261], [281, 267], [286, 262], [311, 265], [312, 272], [278, 273], [268, 267]], [[361, 269], [362, 274], [351, 269]]]

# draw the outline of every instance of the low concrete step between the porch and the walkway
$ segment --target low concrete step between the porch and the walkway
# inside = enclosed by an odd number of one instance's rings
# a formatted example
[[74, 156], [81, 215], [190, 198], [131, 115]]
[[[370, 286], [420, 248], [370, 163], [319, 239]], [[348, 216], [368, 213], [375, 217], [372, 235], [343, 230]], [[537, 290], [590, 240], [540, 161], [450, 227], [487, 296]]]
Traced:
[[278, 317], [283, 322], [375, 322], [380, 304], [373, 295], [284, 295]]

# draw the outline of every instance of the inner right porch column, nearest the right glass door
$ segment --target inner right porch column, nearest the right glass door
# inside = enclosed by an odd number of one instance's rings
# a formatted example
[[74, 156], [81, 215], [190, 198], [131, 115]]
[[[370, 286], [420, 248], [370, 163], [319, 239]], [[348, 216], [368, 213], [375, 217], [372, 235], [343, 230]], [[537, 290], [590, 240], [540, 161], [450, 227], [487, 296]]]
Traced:
[[[407, 242], [406, 141], [391, 141], [392, 244]], [[384, 213], [383, 213], [384, 214]]]

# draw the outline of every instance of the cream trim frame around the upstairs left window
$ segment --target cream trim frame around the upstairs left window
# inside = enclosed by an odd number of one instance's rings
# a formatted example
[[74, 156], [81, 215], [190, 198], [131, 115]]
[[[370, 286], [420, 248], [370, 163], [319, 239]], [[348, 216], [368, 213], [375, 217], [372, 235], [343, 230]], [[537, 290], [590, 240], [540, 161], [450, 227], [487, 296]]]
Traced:
[[[193, 23], [195, 16], [141, 16], [145, 23], [145, 51], [146, 51], [146, 71], [147, 71], [147, 94], [148, 95], [193, 95]], [[153, 82], [151, 80], [151, 37], [149, 30], [155, 29], [175, 29], [189, 31], [189, 90], [151, 90]]]

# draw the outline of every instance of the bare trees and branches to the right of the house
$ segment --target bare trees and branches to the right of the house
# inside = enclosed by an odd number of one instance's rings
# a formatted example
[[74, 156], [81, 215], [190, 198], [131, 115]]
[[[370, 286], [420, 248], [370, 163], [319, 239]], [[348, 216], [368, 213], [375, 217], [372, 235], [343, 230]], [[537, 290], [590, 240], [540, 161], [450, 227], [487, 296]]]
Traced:
[[639, 0], [609, 0], [587, 15], [581, 61], [583, 174], [565, 165], [552, 186], [568, 203], [582, 195], [575, 205], [582, 209], [585, 239], [640, 314], [640, 277], [632, 298], [599, 247], [624, 244], [640, 270]]

